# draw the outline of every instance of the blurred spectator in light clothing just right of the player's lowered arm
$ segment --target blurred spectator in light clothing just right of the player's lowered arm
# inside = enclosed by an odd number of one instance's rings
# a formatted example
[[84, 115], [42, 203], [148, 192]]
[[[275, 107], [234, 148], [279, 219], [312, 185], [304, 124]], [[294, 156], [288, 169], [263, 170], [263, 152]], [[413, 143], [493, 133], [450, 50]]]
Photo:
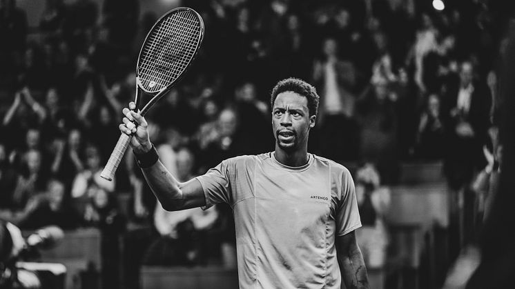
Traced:
[[378, 171], [370, 163], [356, 172], [356, 198], [362, 223], [356, 239], [363, 258], [367, 268], [382, 268], [389, 243], [384, 217], [390, 206], [390, 190], [380, 186]]

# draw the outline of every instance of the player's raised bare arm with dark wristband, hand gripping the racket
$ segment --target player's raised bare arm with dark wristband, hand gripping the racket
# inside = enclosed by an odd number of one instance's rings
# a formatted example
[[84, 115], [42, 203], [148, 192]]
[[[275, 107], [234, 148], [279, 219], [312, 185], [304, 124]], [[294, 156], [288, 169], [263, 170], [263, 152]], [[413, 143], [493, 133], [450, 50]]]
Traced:
[[[157, 160], [153, 163], [154, 154], [157, 152], [148, 137], [148, 124], [144, 117], [133, 111], [135, 107], [135, 103], [130, 102], [130, 110], [128, 108], [122, 110], [125, 117], [124, 123], [119, 125], [119, 129], [122, 133], [133, 135], [130, 139], [130, 147], [133, 148], [136, 158], [140, 160], [139, 165], [142, 167], [148, 186], [154, 192], [161, 206], [165, 210], [184, 210], [205, 206], [204, 191], [197, 179], [180, 183], [161, 161]], [[149, 160], [150, 162], [148, 162]]]

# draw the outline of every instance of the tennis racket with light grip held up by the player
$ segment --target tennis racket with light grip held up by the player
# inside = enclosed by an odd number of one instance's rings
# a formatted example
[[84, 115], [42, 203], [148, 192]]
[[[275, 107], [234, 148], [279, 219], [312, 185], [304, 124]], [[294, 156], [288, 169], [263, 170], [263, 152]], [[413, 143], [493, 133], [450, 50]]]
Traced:
[[[184, 76], [203, 38], [204, 21], [191, 8], [175, 8], [157, 20], [146, 35], [136, 66], [134, 102], [136, 110], [146, 103], [140, 110], [142, 116]], [[122, 133], [101, 177], [113, 180], [130, 138]]]

